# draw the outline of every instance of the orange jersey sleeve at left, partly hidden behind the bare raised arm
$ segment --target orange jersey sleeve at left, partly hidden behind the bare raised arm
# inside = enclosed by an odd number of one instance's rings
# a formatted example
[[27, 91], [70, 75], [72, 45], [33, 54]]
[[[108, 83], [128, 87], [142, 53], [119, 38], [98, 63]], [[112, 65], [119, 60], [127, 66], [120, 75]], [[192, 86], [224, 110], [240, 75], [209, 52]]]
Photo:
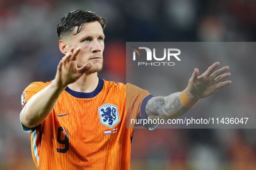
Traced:
[[[21, 95], [21, 106], [22, 106], [22, 109], [26, 105], [27, 101], [29, 101], [29, 99], [33, 95], [35, 95], [36, 93], [38, 93], [39, 91], [44, 89], [46, 86], [47, 85], [45, 83], [43, 83], [43, 82], [33, 82], [33, 83], [31, 83], [23, 91], [23, 94]], [[36, 126], [36, 127], [33, 127], [33, 128], [29, 128], [29, 127], [26, 127], [25, 125], [23, 125], [22, 123], [21, 123], [21, 126], [22, 126], [22, 129], [23, 129], [24, 132], [33, 132], [38, 127], [38, 126]]]

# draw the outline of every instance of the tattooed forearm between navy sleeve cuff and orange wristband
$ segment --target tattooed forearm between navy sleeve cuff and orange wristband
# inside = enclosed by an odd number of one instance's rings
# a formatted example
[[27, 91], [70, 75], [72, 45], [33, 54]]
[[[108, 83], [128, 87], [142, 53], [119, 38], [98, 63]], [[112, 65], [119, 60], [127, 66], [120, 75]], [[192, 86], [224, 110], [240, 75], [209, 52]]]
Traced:
[[181, 92], [171, 94], [167, 97], [150, 98], [146, 104], [145, 112], [149, 119], [176, 119], [185, 113], [190, 108], [181, 105], [179, 95]]

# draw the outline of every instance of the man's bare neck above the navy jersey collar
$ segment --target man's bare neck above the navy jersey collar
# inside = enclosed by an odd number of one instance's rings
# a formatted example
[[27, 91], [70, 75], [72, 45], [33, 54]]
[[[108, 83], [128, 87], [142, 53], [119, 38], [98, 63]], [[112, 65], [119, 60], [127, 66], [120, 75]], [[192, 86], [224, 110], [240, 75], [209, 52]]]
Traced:
[[98, 83], [97, 72], [94, 72], [92, 74], [84, 74], [76, 82], [69, 84], [68, 88], [73, 91], [90, 93], [97, 88]]

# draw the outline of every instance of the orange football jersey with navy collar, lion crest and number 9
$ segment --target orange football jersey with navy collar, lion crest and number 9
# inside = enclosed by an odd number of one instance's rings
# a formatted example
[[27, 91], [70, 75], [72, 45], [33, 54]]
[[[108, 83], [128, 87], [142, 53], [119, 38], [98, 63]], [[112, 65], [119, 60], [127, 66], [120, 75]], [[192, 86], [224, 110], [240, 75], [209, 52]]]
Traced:
[[[30, 84], [22, 94], [22, 105], [50, 83]], [[126, 88], [129, 88], [127, 94]], [[23, 130], [30, 132], [36, 167], [38, 170], [130, 170], [133, 129], [126, 128], [126, 111], [135, 119], [143, 117], [146, 101], [151, 97], [134, 85], [100, 78], [91, 93], [67, 87], [39, 126], [28, 128], [22, 124]]]

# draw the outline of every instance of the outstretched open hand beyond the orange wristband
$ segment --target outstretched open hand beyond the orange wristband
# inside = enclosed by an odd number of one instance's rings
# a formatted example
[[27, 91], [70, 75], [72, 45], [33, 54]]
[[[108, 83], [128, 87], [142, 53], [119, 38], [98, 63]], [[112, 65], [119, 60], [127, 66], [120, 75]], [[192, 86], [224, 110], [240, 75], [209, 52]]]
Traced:
[[231, 83], [230, 80], [221, 82], [230, 76], [230, 73], [223, 74], [229, 69], [229, 66], [225, 66], [214, 72], [219, 65], [219, 62], [214, 63], [201, 76], [199, 76], [199, 70], [197, 68], [194, 69], [194, 72], [188, 81], [188, 88], [186, 90], [189, 98], [192, 100], [206, 98], [211, 94], [214, 94], [219, 88]]

